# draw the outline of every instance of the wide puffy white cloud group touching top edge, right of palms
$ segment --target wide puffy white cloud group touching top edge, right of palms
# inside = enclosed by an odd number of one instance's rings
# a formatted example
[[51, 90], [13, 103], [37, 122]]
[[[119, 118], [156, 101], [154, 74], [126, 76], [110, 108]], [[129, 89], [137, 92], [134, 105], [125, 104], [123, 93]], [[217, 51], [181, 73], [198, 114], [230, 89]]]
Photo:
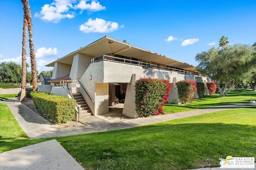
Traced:
[[80, 9], [82, 14], [83, 10], [87, 10], [89, 13], [106, 10], [105, 6], [102, 6], [99, 2], [92, 1], [90, 4], [86, 4], [88, 0], [81, 0], [76, 4], [77, 0], [54, 0], [51, 4], [44, 4], [41, 11], [34, 15], [44, 21], [50, 21], [53, 23], [60, 22], [64, 18], [74, 18], [76, 12], [74, 10]]

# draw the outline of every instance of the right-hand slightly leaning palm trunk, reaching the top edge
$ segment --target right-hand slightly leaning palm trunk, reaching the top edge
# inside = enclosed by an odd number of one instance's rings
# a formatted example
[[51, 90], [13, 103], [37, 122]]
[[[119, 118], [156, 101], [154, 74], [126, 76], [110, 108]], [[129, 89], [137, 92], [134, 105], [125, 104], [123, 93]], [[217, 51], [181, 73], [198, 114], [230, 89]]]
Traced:
[[28, 20], [28, 33], [29, 33], [29, 48], [30, 48], [30, 61], [31, 61], [31, 73], [32, 73], [32, 92], [37, 90], [37, 71], [36, 71], [36, 54], [34, 49], [34, 41], [32, 34], [32, 20], [31, 20], [31, 10], [28, 0], [21, 0], [24, 6], [24, 15]]

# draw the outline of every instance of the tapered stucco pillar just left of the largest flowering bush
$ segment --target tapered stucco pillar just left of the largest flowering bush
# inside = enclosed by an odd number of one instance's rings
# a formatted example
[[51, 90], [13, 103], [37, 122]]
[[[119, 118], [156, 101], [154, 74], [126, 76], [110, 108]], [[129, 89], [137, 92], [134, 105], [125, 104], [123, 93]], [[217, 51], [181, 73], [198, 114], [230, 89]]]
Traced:
[[136, 114], [136, 107], [135, 107], [135, 81], [136, 81], [136, 74], [132, 74], [132, 78], [130, 83], [127, 84], [126, 89], [126, 96], [124, 100], [124, 109], [123, 114], [129, 117], [137, 117]]

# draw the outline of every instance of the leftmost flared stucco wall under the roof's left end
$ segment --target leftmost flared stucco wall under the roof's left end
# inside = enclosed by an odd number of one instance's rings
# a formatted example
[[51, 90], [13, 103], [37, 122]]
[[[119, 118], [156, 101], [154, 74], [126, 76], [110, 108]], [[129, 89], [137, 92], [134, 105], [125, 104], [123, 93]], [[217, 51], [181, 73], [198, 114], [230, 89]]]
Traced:
[[59, 78], [70, 74], [71, 65], [55, 63], [52, 73], [52, 79]]

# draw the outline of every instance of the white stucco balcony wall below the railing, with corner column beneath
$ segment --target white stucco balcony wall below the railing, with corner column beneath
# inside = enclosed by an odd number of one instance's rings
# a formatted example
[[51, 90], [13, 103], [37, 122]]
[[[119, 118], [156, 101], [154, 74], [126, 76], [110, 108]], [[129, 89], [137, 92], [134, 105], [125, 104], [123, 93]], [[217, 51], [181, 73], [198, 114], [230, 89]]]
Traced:
[[[132, 74], [136, 74], [136, 80], [142, 77], [163, 78], [170, 82], [172, 82], [174, 77], [176, 77], [177, 82], [180, 80], [194, 80], [196, 82], [203, 82], [204, 79], [206, 80], [206, 78], [194, 75], [152, 68], [142, 68], [142, 66], [114, 63], [111, 61], [91, 63], [81, 77], [80, 82], [94, 100], [94, 115], [105, 113], [108, 104], [108, 93], [106, 92], [106, 94], [96, 95], [96, 86], [98, 86], [96, 84], [130, 83]], [[92, 76], [92, 80], [90, 80], [90, 76]], [[80, 92], [82, 91], [82, 87], [80, 87]], [[84, 98], [86, 97], [84, 93], [82, 93], [82, 95]]]

